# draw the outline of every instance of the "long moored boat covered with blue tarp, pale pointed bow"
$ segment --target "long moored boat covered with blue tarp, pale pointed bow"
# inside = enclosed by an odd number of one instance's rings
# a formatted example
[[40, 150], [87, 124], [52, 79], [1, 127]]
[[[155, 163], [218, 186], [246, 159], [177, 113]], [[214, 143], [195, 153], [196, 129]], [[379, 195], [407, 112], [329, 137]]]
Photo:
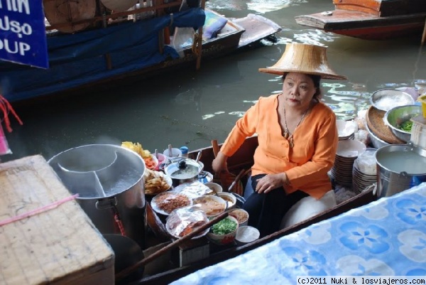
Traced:
[[[45, 7], [55, 4], [55, 1], [45, 0]], [[193, 65], [194, 69], [200, 68], [201, 59], [231, 53], [280, 31], [278, 24], [254, 14], [231, 20], [201, 7], [173, 14], [164, 12], [167, 11], [165, 9], [173, 8], [172, 4], [176, 6], [181, 2], [173, 1], [106, 16], [89, 14], [88, 18], [76, 17], [75, 21], [58, 20], [55, 11], [52, 13], [54, 16], [49, 17], [52, 23], [46, 24], [49, 68], [44, 70], [0, 60], [2, 95], [9, 102], [16, 102], [63, 95], [64, 92], [72, 94], [94, 86], [107, 87], [117, 80], [140, 80], [188, 65]], [[137, 20], [138, 15], [147, 11], [155, 11], [156, 14], [151, 18]], [[173, 27], [204, 28], [202, 35], [205, 36], [209, 28], [208, 17], [216, 23], [224, 23], [220, 31], [214, 31], [211, 38], [198, 37], [192, 41], [192, 45], [180, 46], [181, 54], [173, 45], [173, 37], [168, 44], [166, 31], [172, 29], [169, 28], [172, 21]], [[99, 26], [99, 21], [103, 21], [102, 26]]]

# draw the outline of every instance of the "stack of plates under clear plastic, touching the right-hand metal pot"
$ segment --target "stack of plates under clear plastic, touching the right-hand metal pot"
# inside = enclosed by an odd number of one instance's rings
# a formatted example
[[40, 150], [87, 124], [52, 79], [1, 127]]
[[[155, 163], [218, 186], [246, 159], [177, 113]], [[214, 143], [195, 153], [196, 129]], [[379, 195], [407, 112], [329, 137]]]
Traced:
[[354, 161], [352, 190], [361, 193], [377, 182], [376, 149], [367, 149]]

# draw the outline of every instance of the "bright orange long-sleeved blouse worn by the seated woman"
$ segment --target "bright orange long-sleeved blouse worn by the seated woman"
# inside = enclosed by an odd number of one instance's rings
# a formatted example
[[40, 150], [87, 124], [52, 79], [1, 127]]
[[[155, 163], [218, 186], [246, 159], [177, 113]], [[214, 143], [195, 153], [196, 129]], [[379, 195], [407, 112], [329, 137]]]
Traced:
[[339, 141], [336, 115], [322, 102], [315, 104], [295, 129], [294, 146], [290, 148], [282, 134], [277, 108], [278, 95], [260, 97], [236, 122], [221, 151], [232, 156], [247, 136], [257, 134], [251, 174], [285, 172], [290, 182], [287, 193], [302, 190], [319, 199], [332, 189], [327, 172], [333, 166]]

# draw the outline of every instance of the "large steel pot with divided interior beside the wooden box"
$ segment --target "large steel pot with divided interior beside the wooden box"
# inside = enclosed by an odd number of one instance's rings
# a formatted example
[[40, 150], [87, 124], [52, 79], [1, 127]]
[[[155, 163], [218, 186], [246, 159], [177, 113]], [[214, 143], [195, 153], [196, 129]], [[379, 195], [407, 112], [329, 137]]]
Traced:
[[91, 144], [63, 151], [48, 161], [102, 234], [145, 243], [145, 163], [121, 146]]

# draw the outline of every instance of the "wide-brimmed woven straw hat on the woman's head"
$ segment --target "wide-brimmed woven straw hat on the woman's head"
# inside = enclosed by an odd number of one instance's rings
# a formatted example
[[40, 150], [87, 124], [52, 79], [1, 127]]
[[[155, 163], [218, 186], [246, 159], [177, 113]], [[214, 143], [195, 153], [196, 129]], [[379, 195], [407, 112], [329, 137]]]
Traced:
[[320, 75], [324, 79], [347, 79], [337, 75], [327, 63], [327, 48], [320, 45], [288, 43], [280, 60], [269, 68], [259, 68], [260, 72], [283, 75], [284, 72], [300, 72]]

